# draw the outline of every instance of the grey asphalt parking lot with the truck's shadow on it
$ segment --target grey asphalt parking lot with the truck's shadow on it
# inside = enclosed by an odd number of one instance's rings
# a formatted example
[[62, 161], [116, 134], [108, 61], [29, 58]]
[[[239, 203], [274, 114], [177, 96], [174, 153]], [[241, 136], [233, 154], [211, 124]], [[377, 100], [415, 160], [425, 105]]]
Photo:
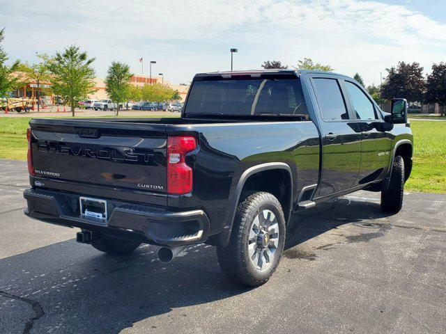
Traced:
[[445, 333], [446, 196], [380, 212], [357, 192], [293, 216], [277, 272], [247, 289], [213, 247], [171, 264], [110, 257], [26, 218], [22, 161], [0, 160], [0, 333]]

